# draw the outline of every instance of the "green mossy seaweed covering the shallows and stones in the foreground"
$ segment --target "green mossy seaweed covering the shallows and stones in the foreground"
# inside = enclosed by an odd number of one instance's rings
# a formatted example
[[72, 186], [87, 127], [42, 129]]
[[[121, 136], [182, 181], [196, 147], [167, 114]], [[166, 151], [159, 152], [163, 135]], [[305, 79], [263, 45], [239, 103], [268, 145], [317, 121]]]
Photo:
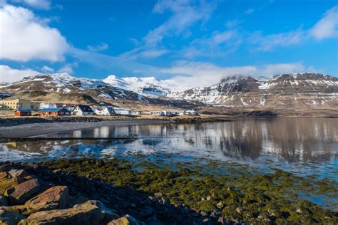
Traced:
[[[253, 224], [338, 223], [334, 211], [322, 209], [299, 197], [301, 192], [337, 197], [338, 191], [334, 188], [337, 182], [331, 179], [305, 179], [280, 169], [270, 174], [258, 174], [240, 164], [215, 162], [185, 162], [159, 167], [145, 160], [60, 159], [41, 164], [148, 194], [160, 192], [170, 203], [216, 211], [230, 221]], [[222, 206], [217, 207], [220, 202]]]

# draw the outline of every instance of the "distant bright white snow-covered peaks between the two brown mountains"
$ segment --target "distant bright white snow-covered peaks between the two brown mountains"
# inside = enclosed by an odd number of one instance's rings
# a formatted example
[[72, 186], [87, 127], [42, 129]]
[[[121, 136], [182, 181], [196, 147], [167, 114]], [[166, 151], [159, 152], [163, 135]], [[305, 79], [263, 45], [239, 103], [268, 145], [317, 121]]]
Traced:
[[170, 92], [189, 89], [188, 87], [178, 85], [174, 80], [157, 80], [154, 77], [118, 78], [116, 75], [109, 75], [106, 79], [103, 79], [103, 82], [152, 98], [163, 97]]

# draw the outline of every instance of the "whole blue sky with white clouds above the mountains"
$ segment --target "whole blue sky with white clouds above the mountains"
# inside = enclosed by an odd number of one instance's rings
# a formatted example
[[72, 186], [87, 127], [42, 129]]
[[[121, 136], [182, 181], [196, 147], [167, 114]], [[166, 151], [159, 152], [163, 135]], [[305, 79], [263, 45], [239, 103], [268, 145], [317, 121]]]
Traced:
[[338, 75], [337, 1], [0, 0], [0, 82], [299, 72]]

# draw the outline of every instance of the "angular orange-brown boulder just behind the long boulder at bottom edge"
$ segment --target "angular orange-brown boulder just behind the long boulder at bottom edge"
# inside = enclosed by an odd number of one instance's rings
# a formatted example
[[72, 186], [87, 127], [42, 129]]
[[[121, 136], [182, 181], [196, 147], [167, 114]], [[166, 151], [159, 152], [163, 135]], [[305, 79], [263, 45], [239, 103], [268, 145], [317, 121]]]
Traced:
[[25, 205], [27, 206], [29, 214], [36, 211], [65, 209], [68, 197], [68, 187], [56, 186], [47, 189], [45, 192], [32, 199], [29, 199]]

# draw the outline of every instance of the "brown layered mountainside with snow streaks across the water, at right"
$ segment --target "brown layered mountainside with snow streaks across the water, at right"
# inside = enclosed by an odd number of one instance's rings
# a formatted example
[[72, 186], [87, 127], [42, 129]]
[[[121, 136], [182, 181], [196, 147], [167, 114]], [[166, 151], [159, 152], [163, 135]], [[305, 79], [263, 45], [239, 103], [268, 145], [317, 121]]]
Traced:
[[319, 73], [277, 75], [270, 80], [232, 76], [204, 88], [168, 93], [227, 108], [255, 109], [337, 109], [338, 78]]

